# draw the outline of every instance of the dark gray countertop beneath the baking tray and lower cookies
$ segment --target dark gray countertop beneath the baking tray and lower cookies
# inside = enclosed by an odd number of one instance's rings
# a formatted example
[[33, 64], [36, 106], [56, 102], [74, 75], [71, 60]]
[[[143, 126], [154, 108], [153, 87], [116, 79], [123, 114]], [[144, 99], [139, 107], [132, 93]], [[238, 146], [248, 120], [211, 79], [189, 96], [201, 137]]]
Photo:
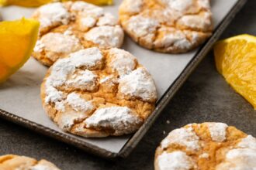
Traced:
[[[256, 1], [248, 0], [222, 38], [256, 35]], [[171, 121], [167, 124], [167, 120]], [[0, 119], [0, 155], [46, 158], [62, 169], [154, 169], [154, 150], [174, 128], [204, 121], [221, 121], [256, 136], [256, 111], [216, 72], [213, 52], [206, 56], [171, 100], [154, 126], [126, 159], [109, 162]], [[164, 134], [166, 131], [166, 134]]]

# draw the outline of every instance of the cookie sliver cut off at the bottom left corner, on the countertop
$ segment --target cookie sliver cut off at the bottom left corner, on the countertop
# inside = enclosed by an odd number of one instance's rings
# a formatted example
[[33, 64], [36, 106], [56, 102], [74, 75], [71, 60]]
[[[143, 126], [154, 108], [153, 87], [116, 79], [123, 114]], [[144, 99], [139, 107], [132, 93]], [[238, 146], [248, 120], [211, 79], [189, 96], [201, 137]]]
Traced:
[[53, 163], [46, 160], [36, 161], [34, 158], [19, 155], [0, 156], [1, 170], [60, 170]]

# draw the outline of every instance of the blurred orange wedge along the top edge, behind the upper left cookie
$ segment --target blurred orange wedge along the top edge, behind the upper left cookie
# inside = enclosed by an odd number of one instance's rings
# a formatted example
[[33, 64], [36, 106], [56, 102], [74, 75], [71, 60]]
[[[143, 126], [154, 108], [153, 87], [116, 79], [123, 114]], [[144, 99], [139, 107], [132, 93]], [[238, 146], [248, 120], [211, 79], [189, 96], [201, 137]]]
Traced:
[[[19, 5], [25, 7], [37, 7], [49, 2], [67, 2], [68, 0], [0, 0], [0, 5]], [[112, 0], [83, 0], [95, 5], [111, 5]]]

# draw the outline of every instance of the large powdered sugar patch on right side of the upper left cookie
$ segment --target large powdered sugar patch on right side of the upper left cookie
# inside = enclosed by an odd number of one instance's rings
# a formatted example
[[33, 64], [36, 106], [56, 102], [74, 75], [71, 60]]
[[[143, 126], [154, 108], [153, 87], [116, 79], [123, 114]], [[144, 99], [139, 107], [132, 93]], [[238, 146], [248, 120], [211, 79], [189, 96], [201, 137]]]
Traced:
[[120, 47], [124, 33], [120, 26], [99, 26], [90, 29], [84, 37], [102, 48]]

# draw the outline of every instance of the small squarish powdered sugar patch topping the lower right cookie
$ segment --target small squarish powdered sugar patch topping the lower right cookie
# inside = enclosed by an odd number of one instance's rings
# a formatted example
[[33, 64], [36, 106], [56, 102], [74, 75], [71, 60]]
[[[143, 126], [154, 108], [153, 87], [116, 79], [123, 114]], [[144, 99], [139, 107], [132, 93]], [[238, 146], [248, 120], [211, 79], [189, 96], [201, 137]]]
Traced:
[[207, 123], [207, 127], [209, 128], [209, 134], [211, 134], [213, 141], [222, 142], [226, 140], [227, 124]]

